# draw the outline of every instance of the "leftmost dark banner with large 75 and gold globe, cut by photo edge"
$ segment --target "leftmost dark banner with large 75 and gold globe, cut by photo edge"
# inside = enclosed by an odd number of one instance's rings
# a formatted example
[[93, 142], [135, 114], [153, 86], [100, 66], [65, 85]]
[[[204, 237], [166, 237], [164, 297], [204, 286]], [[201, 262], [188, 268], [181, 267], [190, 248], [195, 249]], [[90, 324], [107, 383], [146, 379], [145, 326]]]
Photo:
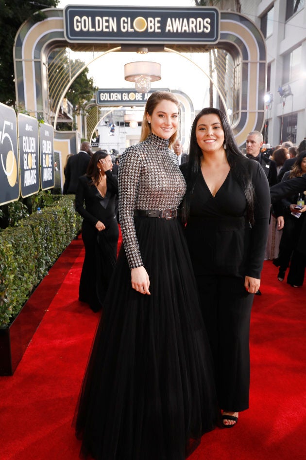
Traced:
[[15, 110], [0, 103], [0, 205], [19, 198]]

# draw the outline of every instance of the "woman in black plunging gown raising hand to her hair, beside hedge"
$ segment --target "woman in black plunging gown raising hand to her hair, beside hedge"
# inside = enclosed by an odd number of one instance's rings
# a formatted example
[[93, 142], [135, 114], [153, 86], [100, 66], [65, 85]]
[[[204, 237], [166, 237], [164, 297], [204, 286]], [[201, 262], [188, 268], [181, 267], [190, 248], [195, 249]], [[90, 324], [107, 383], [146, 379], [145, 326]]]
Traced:
[[119, 229], [115, 196], [118, 179], [112, 174], [112, 166], [106, 150], [94, 153], [87, 173], [79, 178], [75, 195], [75, 209], [83, 217], [85, 245], [79, 300], [88, 303], [94, 312], [102, 308], [117, 257]]

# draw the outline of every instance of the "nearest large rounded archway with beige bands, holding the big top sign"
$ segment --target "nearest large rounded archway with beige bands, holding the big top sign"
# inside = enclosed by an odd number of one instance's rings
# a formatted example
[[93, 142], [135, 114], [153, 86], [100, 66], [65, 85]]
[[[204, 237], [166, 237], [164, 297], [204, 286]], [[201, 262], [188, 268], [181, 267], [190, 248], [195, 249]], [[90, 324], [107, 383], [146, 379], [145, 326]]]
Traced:
[[[42, 118], [50, 122], [50, 100], [48, 91], [48, 57], [51, 52], [58, 48], [69, 47], [73, 51], [105, 52], [114, 48], [114, 43], [101, 43], [99, 40], [71, 40], [67, 39], [67, 24], [65, 24], [65, 10], [51, 8], [44, 10], [46, 19], [33, 23], [26, 21], [19, 29], [14, 46], [15, 78], [17, 105], [23, 106], [32, 116]], [[71, 7], [72, 8], [72, 7]], [[76, 10], [79, 7], [73, 7]], [[86, 8], [86, 7], [83, 7]], [[103, 7], [100, 7], [103, 9]], [[107, 8], [107, 7], [105, 7]], [[104, 8], [104, 9], [105, 9]], [[116, 11], [120, 10], [117, 7]], [[133, 8], [130, 8], [133, 10]], [[138, 10], [138, 14], [144, 16], [146, 8]], [[156, 8], [160, 10], [160, 8]], [[175, 12], [192, 11], [193, 15], [202, 13], [204, 8], [178, 8]], [[206, 9], [208, 10], [208, 9]], [[214, 8], [213, 10], [217, 10]], [[136, 8], [134, 8], [136, 11]], [[150, 11], [154, 11], [153, 8]], [[171, 12], [170, 8], [167, 11]], [[218, 12], [218, 10], [217, 10]], [[145, 39], [141, 46], [150, 46], [150, 50], [163, 51], [167, 45], [174, 52], [201, 52], [208, 48], [216, 48], [228, 52], [235, 67], [233, 86], [236, 94], [236, 103], [233, 108], [233, 130], [238, 145], [245, 142], [248, 132], [263, 128], [265, 103], [263, 96], [266, 88], [266, 46], [261, 32], [255, 24], [245, 16], [221, 11], [220, 30], [217, 40], [207, 42], [203, 37], [192, 44], [172, 42], [170, 46], [167, 40], [164, 43], [153, 44]], [[120, 41], [117, 40], [117, 43]], [[137, 43], [121, 45], [121, 51], [136, 51]], [[139, 44], [138, 44], [139, 46]], [[168, 51], [168, 50], [167, 50]], [[75, 77], [70, 75], [70, 79]], [[65, 85], [64, 85], [65, 86]], [[64, 89], [63, 86], [63, 89]], [[226, 107], [225, 107], [226, 109]]]

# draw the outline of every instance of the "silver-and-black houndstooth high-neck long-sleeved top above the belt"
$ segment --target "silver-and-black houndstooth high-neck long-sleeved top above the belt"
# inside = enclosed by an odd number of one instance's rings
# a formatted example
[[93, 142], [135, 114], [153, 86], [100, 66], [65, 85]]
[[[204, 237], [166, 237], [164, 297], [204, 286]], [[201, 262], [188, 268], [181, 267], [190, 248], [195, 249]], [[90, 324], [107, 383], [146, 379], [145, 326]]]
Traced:
[[134, 210], [176, 209], [186, 192], [185, 179], [169, 139], [150, 134], [127, 148], [119, 162], [119, 221], [130, 269], [143, 265]]

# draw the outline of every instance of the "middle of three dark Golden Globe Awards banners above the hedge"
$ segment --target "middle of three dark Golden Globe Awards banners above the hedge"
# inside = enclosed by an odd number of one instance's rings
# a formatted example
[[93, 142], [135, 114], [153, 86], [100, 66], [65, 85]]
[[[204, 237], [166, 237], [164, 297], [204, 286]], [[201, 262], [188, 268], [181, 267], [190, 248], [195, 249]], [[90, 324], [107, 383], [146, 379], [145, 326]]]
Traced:
[[39, 191], [38, 121], [18, 113], [20, 190], [22, 198]]

